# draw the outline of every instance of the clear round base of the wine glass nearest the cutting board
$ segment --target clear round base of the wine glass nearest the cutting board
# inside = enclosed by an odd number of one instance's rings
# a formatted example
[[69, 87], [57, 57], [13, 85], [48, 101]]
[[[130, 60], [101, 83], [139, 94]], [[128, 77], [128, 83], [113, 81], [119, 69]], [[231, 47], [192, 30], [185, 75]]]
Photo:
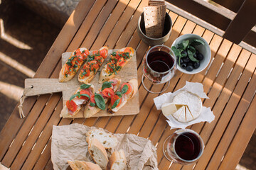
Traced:
[[168, 89], [168, 87], [170, 85], [170, 81], [168, 81], [168, 83], [166, 82], [166, 84], [164, 85], [164, 88], [161, 89], [161, 91], [152, 91], [151, 88], [153, 85], [154, 86], [163, 86], [163, 84], [154, 84], [152, 81], [147, 79], [144, 76], [144, 74], [142, 74], [142, 85], [144, 86], [144, 89], [146, 89], [146, 91], [149, 91], [149, 93], [151, 93], [151, 94], [161, 94], [162, 92], [166, 91], [166, 89]]

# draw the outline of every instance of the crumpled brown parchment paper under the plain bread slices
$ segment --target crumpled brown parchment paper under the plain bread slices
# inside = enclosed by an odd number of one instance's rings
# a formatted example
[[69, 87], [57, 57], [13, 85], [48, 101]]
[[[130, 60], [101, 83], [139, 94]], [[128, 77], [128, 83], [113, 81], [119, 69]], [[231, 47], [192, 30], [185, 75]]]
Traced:
[[[67, 169], [68, 160], [93, 162], [85, 140], [86, 132], [95, 127], [74, 123], [71, 125], [53, 125], [51, 160], [53, 169]], [[156, 147], [150, 140], [132, 134], [114, 134], [119, 143], [111, 150], [124, 149], [127, 169], [158, 169]]]

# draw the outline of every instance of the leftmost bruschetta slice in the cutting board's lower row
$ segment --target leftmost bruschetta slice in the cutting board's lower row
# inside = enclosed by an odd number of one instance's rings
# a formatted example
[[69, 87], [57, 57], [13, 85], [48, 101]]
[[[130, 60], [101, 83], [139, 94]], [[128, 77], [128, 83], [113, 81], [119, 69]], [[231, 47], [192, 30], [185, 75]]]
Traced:
[[90, 98], [94, 94], [94, 88], [91, 84], [82, 84], [70, 97], [70, 100], [66, 101], [63, 110], [60, 113], [60, 118], [72, 118], [82, 108], [83, 105], [90, 101]]

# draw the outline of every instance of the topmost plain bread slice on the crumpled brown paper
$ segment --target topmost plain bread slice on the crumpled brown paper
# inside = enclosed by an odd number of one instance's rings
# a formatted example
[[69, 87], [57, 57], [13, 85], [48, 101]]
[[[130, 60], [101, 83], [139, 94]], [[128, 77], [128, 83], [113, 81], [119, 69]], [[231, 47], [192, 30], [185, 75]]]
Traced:
[[86, 136], [97, 139], [105, 147], [105, 149], [114, 148], [118, 143], [117, 137], [112, 135], [110, 132], [106, 132], [105, 130], [92, 129], [86, 133]]

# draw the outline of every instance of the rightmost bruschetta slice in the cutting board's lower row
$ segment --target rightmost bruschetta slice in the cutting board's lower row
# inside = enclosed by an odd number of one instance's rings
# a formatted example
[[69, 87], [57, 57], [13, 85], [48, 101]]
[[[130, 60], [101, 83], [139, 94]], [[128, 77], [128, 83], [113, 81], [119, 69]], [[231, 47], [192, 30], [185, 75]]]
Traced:
[[123, 83], [114, 96], [110, 99], [110, 104], [107, 108], [108, 113], [119, 111], [127, 101], [129, 101], [138, 91], [137, 79], [131, 79], [127, 83]]

